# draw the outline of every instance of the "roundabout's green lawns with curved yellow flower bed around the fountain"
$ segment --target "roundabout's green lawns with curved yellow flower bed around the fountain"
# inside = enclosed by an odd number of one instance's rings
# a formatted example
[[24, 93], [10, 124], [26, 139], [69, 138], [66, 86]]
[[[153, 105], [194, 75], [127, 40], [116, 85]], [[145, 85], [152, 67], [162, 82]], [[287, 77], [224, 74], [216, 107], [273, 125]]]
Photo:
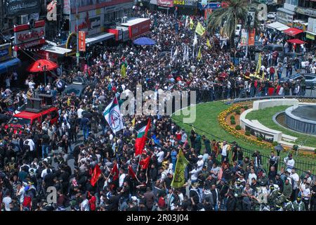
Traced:
[[[298, 99], [299, 103], [315, 103], [315, 99]], [[254, 101], [242, 101], [239, 103], [232, 103], [228, 105], [225, 101], [215, 101], [209, 103], [199, 103], [195, 105], [197, 110], [197, 120], [193, 124], [183, 124], [183, 115], [176, 116], [173, 115], [172, 119], [176, 124], [185, 129], [187, 132], [192, 130], [192, 125], [195, 130], [200, 135], [205, 135], [210, 140], [225, 140], [229, 143], [236, 141], [239, 146], [243, 149], [249, 151], [250, 153], [254, 153], [255, 150], [259, 150], [262, 155], [268, 158], [271, 150], [275, 148], [275, 142], [273, 141], [265, 141], [261, 137], [257, 137], [255, 135], [246, 132], [245, 130], [237, 130], [236, 127], [239, 125], [239, 118], [241, 117], [244, 111], [252, 108]], [[282, 131], [285, 137], [294, 137], [295, 139], [290, 141], [291, 146], [294, 144], [300, 145], [303, 141], [309, 149], [308, 150], [298, 150], [298, 156], [296, 158], [296, 162], [299, 165], [310, 163], [315, 164], [316, 154], [316, 139], [315, 136], [310, 136], [308, 134], [298, 134], [296, 131], [289, 131], [284, 127], [279, 126], [273, 122], [272, 117], [278, 113], [286, 110], [291, 105], [276, 105], [272, 108], [265, 108], [263, 110], [256, 110], [254, 114], [249, 113], [247, 119], [255, 119], [262, 123], [264, 127], [268, 127], [269, 129], [275, 129], [277, 131]], [[230, 117], [235, 117], [236, 124], [230, 124]], [[246, 133], [248, 133], [246, 135]], [[289, 141], [289, 140], [287, 140]], [[285, 158], [289, 153], [294, 153], [291, 146], [284, 146], [284, 150], [281, 152], [280, 157]], [[312, 171], [316, 172], [316, 166], [312, 166]]]

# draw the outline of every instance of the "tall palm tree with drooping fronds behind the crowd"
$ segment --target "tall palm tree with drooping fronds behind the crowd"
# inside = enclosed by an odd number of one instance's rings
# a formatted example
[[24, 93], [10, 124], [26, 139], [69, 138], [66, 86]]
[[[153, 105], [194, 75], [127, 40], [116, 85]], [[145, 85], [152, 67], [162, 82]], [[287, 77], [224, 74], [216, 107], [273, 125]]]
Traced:
[[[230, 47], [235, 46], [235, 30], [239, 23], [246, 25], [246, 16], [249, 11], [249, 0], [228, 0], [226, 7], [218, 8], [209, 16], [207, 28], [212, 34], [219, 27], [223, 27], [223, 32], [230, 38]], [[250, 8], [256, 10], [256, 6], [251, 4]], [[223, 24], [223, 21], [225, 23]], [[257, 23], [258, 24], [258, 23]]]

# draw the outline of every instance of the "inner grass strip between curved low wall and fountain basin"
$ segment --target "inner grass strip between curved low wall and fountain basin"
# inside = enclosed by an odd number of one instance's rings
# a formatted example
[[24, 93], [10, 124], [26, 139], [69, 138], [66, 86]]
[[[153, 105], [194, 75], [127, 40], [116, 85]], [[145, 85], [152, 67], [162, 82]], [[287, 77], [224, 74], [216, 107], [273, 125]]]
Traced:
[[288, 129], [283, 128], [282, 126], [279, 126], [272, 120], [273, 115], [283, 110], [286, 110], [287, 108], [289, 108], [289, 106], [282, 105], [282, 106], [276, 106], [272, 108], [265, 108], [262, 110], [252, 111], [251, 113], [248, 113], [246, 115], [246, 119], [258, 120], [259, 122], [261, 122], [261, 124], [265, 125], [266, 127], [269, 127], [270, 129], [282, 131], [284, 134], [297, 137], [298, 139], [296, 140], [296, 143], [301, 143], [301, 141], [303, 141], [305, 146], [316, 148], [315, 136], [310, 136], [308, 134], [300, 134], [295, 131], [290, 131]]

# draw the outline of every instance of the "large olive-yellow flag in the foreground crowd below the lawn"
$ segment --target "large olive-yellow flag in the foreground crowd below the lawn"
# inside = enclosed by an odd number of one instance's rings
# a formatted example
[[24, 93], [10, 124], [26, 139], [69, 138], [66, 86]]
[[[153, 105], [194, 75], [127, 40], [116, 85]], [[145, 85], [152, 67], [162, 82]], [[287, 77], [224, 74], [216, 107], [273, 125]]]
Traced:
[[176, 170], [174, 172], [171, 186], [173, 188], [181, 188], [185, 184], [185, 167], [189, 164], [189, 161], [183, 155], [182, 149], [178, 153], [178, 159], [176, 162]]

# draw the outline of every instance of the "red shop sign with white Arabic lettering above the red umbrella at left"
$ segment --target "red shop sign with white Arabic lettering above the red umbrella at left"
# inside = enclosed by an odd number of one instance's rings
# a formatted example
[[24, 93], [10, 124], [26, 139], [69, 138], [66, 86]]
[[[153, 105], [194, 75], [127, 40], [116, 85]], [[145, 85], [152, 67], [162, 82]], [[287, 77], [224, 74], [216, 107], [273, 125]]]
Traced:
[[14, 44], [17, 46], [35, 46], [45, 42], [45, 21], [37, 21], [34, 28], [29, 25], [18, 25], [14, 29]]

